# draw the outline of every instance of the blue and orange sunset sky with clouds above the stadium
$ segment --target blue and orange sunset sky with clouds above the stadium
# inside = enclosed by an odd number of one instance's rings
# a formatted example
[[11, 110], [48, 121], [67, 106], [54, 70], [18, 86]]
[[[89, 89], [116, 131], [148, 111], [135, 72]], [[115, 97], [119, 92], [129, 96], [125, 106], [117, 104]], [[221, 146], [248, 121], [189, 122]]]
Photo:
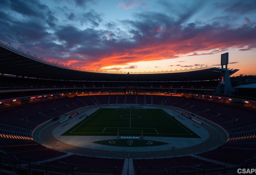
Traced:
[[255, 0], [1, 0], [0, 41], [91, 71], [256, 75]]

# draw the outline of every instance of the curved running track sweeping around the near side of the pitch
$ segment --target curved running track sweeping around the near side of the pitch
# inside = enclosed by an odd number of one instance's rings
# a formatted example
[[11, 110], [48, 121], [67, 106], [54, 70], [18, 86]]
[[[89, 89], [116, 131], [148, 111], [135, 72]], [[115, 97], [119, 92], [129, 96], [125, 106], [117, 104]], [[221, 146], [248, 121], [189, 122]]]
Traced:
[[[223, 138], [223, 135], [216, 130], [216, 128], [208, 126], [205, 124], [203, 127], [209, 131], [209, 138], [195, 146], [180, 148], [175, 150], [165, 150], [165, 151], [148, 151], [148, 152], [121, 152], [121, 151], [108, 151], [108, 150], [96, 150], [91, 148], [83, 148], [74, 145], [67, 144], [63, 141], [60, 141], [54, 137], [53, 130], [59, 125], [58, 121], [50, 124], [45, 127], [40, 132], [40, 140], [45, 146], [56, 148], [58, 150], [63, 150], [69, 153], [76, 153], [81, 155], [91, 155], [91, 156], [101, 156], [101, 157], [137, 157], [137, 158], [146, 158], [146, 157], [173, 157], [180, 155], [191, 155], [195, 153], [206, 152], [207, 150], [212, 150], [220, 146], [218, 142], [219, 138]], [[225, 139], [223, 139], [225, 140]], [[58, 142], [58, 146], [57, 146]], [[224, 143], [222, 143], [224, 144]], [[115, 148], [113, 148], [114, 150]]]

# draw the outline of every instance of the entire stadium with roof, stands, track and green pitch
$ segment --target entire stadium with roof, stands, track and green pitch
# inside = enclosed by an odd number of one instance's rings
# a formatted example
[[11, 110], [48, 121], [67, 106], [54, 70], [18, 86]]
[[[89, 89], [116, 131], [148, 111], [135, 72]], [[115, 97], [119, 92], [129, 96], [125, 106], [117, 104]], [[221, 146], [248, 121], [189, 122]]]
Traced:
[[227, 175], [256, 168], [256, 101], [222, 67], [100, 72], [0, 43], [0, 173]]

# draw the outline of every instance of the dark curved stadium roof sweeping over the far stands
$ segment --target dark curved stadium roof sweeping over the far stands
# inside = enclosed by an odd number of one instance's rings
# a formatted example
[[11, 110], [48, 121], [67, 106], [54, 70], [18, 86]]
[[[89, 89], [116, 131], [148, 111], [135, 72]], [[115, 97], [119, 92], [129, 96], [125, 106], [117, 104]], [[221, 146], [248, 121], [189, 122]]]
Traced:
[[[26, 54], [19, 48], [14, 49], [11, 45], [0, 42], [0, 74], [10, 74], [22, 77], [33, 77], [38, 79], [54, 79], [68, 81], [211, 81], [220, 78], [220, 72], [224, 69], [217, 67], [187, 70], [186, 72], [156, 72], [142, 74], [103, 73], [89, 72], [64, 65], [59, 65], [38, 58], [36, 55]], [[228, 70], [229, 76], [238, 70]]]

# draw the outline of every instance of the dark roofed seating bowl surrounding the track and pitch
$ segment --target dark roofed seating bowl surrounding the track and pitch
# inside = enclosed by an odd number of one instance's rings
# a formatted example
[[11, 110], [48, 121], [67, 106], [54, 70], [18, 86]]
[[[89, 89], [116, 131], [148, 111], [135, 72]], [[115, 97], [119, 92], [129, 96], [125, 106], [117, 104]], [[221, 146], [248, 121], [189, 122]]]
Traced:
[[[220, 68], [153, 74], [88, 72], [34, 58], [3, 43], [0, 46], [1, 173], [227, 175], [238, 167], [256, 167], [256, 103], [247, 101], [247, 106], [243, 99], [216, 96]], [[228, 71], [231, 75], [238, 70]], [[228, 139], [203, 153], [172, 157], [137, 153], [134, 159], [110, 157], [108, 151], [104, 155], [67, 153], [33, 139], [34, 130], [79, 108], [114, 104], [179, 108], [221, 126]], [[51, 131], [45, 136], [49, 142]]]

